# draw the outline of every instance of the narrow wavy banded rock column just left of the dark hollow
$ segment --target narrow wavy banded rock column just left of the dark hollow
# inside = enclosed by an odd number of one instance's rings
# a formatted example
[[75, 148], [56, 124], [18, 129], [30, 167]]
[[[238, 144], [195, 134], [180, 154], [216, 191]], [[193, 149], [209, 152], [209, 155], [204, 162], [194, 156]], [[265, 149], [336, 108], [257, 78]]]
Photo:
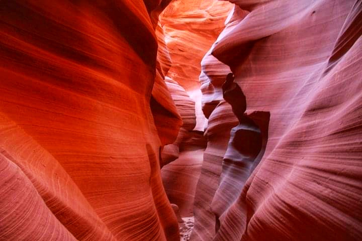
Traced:
[[195, 194], [195, 228], [192, 233], [192, 240], [212, 240], [217, 225], [211, 203], [219, 186], [222, 162], [230, 139], [230, 130], [237, 125], [238, 121], [230, 104], [225, 102], [222, 95], [222, 84], [230, 72], [229, 66], [212, 56], [211, 51], [206, 53], [201, 66], [202, 110], [208, 118], [205, 132], [207, 148], [204, 152]]

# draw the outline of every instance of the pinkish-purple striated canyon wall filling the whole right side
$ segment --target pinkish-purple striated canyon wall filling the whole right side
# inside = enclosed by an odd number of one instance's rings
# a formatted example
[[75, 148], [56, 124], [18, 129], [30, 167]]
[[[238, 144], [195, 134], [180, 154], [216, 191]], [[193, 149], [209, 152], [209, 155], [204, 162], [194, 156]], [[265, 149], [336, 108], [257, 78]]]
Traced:
[[235, 128], [208, 140], [191, 240], [361, 240], [362, 2], [230, 2], [200, 80], [208, 135]]

